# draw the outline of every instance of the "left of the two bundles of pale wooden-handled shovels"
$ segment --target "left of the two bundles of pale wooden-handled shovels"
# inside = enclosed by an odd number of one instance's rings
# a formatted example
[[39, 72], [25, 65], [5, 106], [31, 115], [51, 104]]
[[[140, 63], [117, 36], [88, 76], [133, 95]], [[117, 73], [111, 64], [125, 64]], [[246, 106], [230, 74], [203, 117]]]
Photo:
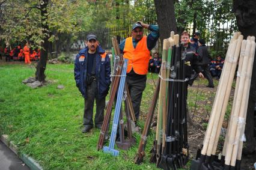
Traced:
[[222, 126], [225, 109], [227, 108], [228, 97], [230, 95], [231, 83], [234, 77], [234, 69], [236, 67], [236, 61], [240, 53], [239, 51], [242, 43], [242, 35], [239, 35], [240, 33], [236, 33], [234, 35], [230, 46], [228, 47], [226, 56], [227, 62], [225, 62], [224, 68], [222, 69], [222, 76], [216, 93], [215, 102], [213, 104], [212, 114], [210, 116], [206, 136], [204, 138], [204, 145], [203, 149], [201, 150], [201, 156], [200, 159], [192, 161], [191, 169], [211, 168], [211, 161], [214, 160], [212, 153], [215, 153], [216, 151], [215, 142], [218, 143], [219, 133], [217, 131], [219, 126]]

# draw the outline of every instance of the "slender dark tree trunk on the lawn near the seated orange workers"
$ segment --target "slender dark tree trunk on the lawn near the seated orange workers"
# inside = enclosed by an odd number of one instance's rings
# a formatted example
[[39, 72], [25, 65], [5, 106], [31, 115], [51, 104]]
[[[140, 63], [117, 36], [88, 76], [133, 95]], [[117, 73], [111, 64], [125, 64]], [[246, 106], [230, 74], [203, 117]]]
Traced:
[[[49, 34], [48, 30], [48, 23], [47, 23], [47, 5], [49, 0], [43, 0], [40, 2], [40, 11], [41, 11], [41, 26], [43, 28], [43, 34]], [[41, 49], [41, 57], [37, 64], [37, 70], [35, 71], [35, 79], [44, 82], [45, 74], [44, 70], [46, 69], [46, 62], [48, 58], [48, 45], [49, 36], [45, 36], [43, 39], [43, 49]]]

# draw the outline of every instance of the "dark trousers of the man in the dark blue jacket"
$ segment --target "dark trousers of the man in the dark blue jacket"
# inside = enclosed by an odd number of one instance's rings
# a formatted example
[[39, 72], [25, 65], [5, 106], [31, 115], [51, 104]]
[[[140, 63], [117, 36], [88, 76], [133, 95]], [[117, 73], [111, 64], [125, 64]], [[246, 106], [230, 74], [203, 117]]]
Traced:
[[87, 99], [85, 99], [84, 108], [84, 126], [93, 127], [93, 107], [94, 99], [96, 99], [96, 115], [94, 118], [95, 126], [100, 126], [104, 120], [105, 97], [100, 99], [97, 97], [97, 83], [94, 80], [91, 85], [87, 85]]

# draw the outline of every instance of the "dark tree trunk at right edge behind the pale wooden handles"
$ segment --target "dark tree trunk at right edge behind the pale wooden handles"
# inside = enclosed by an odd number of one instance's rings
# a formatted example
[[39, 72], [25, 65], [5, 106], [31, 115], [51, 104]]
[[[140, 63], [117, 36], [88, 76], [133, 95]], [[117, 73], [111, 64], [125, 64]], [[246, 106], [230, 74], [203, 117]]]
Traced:
[[[256, 1], [233, 0], [234, 13], [236, 15], [239, 31], [244, 38], [248, 35], [256, 37]], [[249, 94], [248, 111], [246, 117], [245, 136], [246, 146], [243, 153], [252, 153], [255, 150], [254, 139], [254, 106], [256, 102], [256, 58], [254, 56], [254, 68], [252, 70], [251, 89]]]

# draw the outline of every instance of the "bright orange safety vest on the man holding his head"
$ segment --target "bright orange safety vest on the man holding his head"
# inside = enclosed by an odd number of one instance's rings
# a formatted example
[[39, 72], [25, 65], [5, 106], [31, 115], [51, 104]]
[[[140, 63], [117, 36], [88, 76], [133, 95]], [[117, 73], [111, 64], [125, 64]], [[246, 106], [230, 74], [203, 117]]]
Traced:
[[133, 68], [133, 71], [137, 74], [147, 74], [150, 59], [150, 50], [148, 50], [147, 47], [147, 36], [144, 36], [138, 42], [136, 48], [133, 47], [132, 37], [126, 38], [124, 58], [129, 59], [126, 73], [130, 73]]

